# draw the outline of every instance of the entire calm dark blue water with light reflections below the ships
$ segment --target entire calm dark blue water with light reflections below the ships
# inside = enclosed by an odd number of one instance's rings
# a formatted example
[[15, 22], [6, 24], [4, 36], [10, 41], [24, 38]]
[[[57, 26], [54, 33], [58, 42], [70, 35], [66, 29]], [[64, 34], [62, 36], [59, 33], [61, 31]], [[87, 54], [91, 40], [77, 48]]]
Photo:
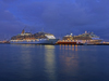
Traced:
[[109, 45], [0, 44], [0, 81], [109, 81]]

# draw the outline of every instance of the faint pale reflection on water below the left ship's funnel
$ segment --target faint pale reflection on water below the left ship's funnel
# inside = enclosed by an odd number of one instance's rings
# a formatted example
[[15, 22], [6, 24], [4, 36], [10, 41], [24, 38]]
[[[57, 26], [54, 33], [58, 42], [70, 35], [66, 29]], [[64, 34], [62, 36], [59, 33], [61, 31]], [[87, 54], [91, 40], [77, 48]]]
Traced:
[[22, 64], [22, 77], [31, 79], [32, 78], [32, 51], [31, 48], [34, 45], [21, 45], [21, 64]]

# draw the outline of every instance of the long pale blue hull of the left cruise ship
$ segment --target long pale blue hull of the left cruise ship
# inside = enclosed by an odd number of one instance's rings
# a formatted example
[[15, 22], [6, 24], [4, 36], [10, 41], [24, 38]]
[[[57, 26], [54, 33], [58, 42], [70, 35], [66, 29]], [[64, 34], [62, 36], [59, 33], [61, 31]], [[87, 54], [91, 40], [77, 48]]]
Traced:
[[11, 40], [11, 44], [56, 44], [59, 39]]

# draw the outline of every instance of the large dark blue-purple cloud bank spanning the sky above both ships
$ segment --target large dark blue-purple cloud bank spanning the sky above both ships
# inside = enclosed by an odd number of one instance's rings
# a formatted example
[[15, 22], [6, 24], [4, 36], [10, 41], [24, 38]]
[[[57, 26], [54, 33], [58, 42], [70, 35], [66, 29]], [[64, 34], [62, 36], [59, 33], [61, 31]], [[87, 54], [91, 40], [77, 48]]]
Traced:
[[82, 3], [81, 0], [71, 3], [64, 1], [37, 1], [20, 5], [19, 13], [26, 22], [39, 23], [52, 30], [63, 28], [63, 31], [65, 31], [74, 27], [81, 29], [107, 21], [109, 11], [107, 5], [104, 4], [102, 1], [98, 3], [94, 0], [84, 0]]

